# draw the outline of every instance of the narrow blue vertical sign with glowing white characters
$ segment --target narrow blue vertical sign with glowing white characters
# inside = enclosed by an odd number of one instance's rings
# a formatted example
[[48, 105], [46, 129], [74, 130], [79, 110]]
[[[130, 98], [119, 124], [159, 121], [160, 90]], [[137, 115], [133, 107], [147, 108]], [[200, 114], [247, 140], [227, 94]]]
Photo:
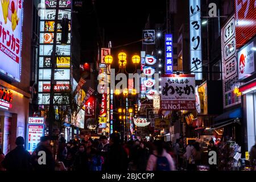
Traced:
[[172, 60], [172, 34], [166, 34], [166, 73], [170, 74], [173, 71]]

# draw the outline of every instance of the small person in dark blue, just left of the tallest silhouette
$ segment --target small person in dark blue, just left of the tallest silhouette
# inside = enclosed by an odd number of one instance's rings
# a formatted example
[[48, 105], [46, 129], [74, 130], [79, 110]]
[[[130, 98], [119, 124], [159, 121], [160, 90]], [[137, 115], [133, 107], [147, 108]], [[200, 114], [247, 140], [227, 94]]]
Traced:
[[101, 171], [103, 161], [96, 148], [91, 147], [88, 161], [90, 171]]

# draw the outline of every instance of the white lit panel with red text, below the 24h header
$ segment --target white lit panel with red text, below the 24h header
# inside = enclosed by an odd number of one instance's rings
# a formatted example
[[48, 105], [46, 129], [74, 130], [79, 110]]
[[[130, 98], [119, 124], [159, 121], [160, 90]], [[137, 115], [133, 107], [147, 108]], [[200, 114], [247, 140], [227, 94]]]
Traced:
[[44, 125], [28, 125], [27, 151], [32, 153], [44, 135]]

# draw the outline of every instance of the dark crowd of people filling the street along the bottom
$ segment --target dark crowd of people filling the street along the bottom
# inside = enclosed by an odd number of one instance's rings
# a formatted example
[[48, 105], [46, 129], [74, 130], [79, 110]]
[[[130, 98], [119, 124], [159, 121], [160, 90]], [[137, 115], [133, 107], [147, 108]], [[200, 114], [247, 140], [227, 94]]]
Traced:
[[[56, 158], [47, 136], [40, 138], [32, 154], [25, 150], [23, 137], [16, 138], [15, 143], [16, 148], [8, 154], [0, 151], [0, 171], [55, 171], [60, 164], [67, 171], [196, 171], [202, 163], [200, 144], [192, 140], [184, 146], [182, 139], [177, 139], [174, 145], [146, 139], [123, 143], [117, 133], [110, 135], [109, 140], [101, 136], [66, 143], [60, 138]], [[216, 144], [210, 140], [208, 152], [217, 152]], [[217, 166], [210, 165], [210, 170], [217, 170]]]

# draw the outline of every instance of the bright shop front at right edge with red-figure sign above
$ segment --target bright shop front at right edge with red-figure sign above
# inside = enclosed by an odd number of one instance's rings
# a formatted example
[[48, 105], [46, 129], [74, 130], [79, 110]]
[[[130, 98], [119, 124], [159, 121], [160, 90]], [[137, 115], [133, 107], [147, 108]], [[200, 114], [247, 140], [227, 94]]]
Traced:
[[242, 94], [243, 143], [245, 152], [256, 143], [256, 37], [238, 51], [238, 79], [243, 82], [239, 87]]

